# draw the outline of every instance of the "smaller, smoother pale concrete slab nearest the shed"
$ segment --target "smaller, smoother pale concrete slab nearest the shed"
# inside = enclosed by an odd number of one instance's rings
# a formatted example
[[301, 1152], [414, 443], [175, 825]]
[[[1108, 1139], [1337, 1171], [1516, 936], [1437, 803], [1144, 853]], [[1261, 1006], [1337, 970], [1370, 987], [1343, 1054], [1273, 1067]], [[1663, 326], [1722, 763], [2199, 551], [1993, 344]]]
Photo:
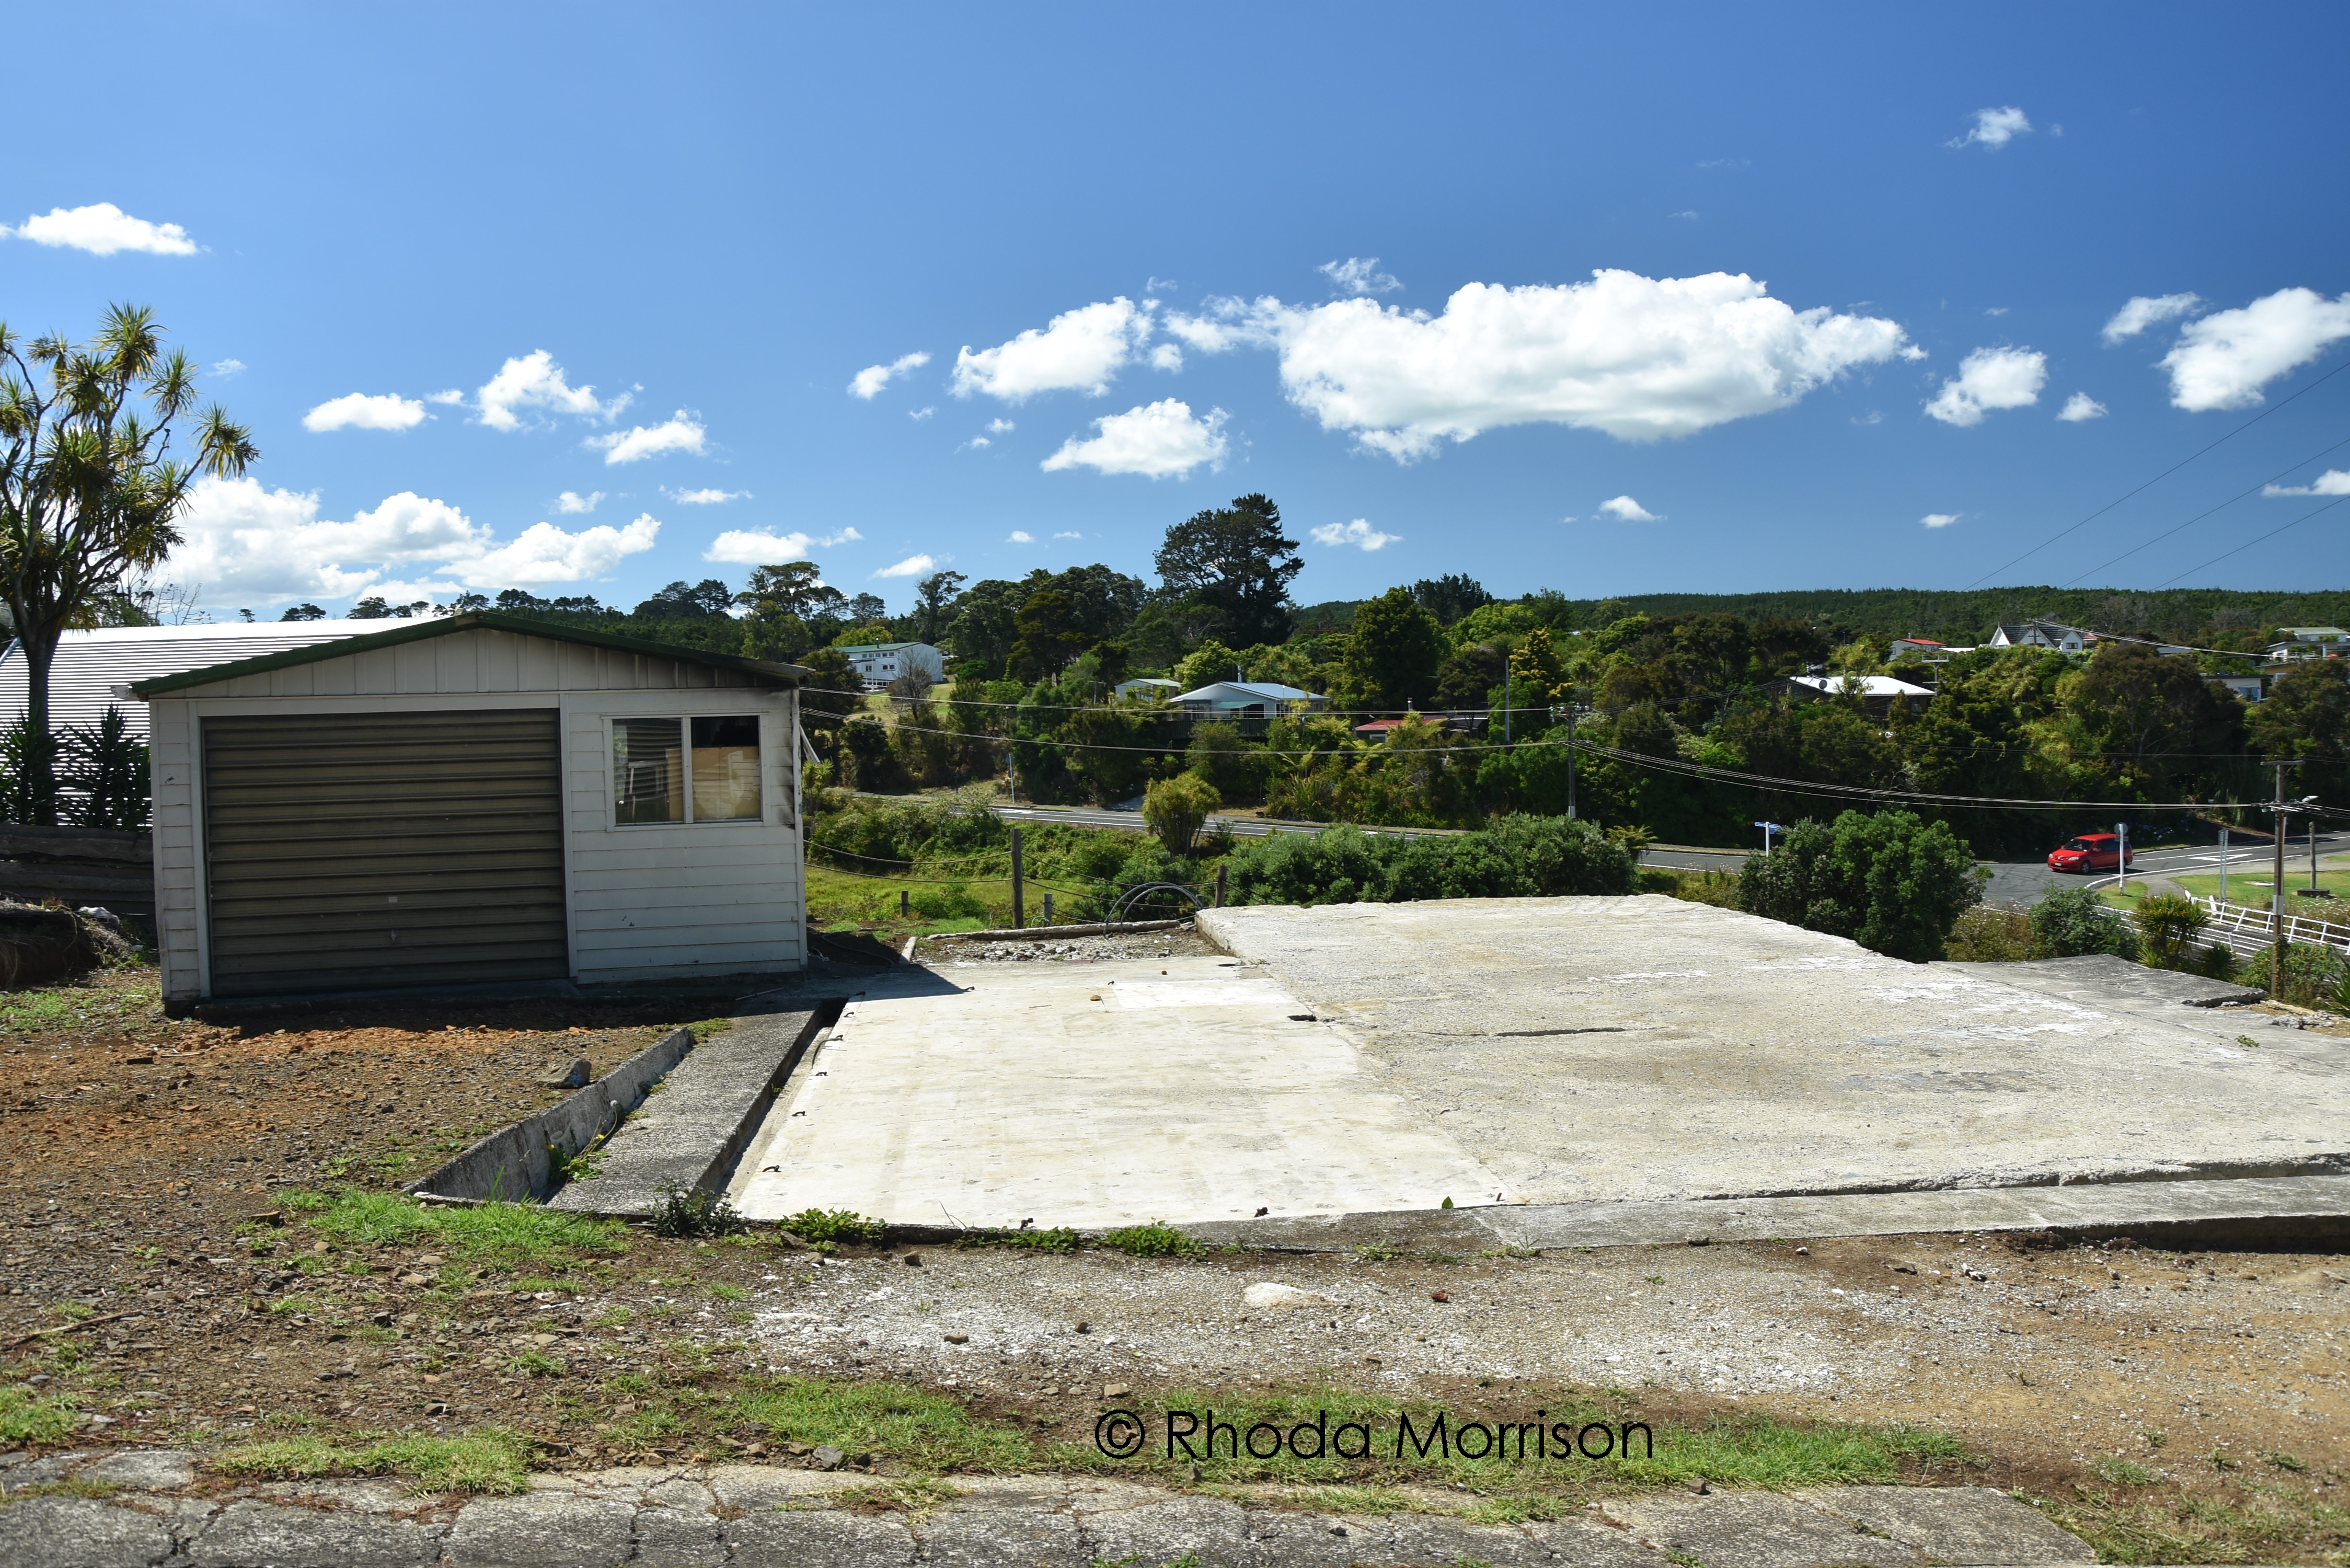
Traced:
[[879, 976], [792, 1077], [731, 1197], [752, 1218], [1102, 1229], [1499, 1187], [1278, 980], [1191, 957]]

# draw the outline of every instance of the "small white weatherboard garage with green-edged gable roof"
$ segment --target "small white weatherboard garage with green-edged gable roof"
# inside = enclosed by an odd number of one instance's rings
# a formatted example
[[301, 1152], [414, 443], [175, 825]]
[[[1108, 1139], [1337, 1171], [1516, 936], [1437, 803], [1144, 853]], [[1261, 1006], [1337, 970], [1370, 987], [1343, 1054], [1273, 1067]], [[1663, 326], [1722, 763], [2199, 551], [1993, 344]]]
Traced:
[[139, 682], [164, 1001], [801, 969], [801, 675], [475, 611]]

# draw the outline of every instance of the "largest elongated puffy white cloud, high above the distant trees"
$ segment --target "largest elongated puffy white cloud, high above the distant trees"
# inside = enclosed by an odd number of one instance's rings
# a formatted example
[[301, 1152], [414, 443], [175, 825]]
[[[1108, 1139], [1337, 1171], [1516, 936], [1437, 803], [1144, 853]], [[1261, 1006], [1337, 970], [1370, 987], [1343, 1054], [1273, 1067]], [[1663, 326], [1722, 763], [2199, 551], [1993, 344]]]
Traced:
[[[1856, 364], [1904, 353], [1901, 327], [1793, 310], [1746, 275], [1504, 287], [1471, 282], [1443, 315], [1368, 299], [1220, 310], [1281, 353], [1281, 381], [1325, 430], [1398, 461], [1528, 423], [1647, 442], [1802, 400]], [[1182, 331], [1189, 322], [1168, 322]]]

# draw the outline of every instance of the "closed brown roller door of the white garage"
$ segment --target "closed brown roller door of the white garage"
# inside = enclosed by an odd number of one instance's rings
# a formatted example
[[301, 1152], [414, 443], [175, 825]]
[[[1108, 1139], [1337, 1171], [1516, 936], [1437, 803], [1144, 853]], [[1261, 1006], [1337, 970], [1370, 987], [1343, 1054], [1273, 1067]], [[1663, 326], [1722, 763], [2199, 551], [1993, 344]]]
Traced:
[[204, 719], [212, 994], [557, 980], [552, 708]]

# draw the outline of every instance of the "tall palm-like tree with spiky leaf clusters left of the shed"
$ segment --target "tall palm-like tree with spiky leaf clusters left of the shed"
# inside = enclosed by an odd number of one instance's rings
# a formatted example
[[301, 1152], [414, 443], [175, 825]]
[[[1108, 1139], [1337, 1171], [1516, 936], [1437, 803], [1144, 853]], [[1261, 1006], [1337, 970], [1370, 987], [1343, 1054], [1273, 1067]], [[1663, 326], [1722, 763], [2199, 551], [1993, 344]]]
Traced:
[[26, 665], [19, 799], [56, 823], [49, 665], [73, 628], [96, 625], [122, 578], [179, 543], [172, 522], [202, 475], [242, 475], [261, 454], [212, 404], [195, 414], [193, 461], [172, 425], [195, 409], [195, 367], [164, 350], [155, 313], [110, 306], [89, 343], [19, 339], [0, 322], [0, 597]]

